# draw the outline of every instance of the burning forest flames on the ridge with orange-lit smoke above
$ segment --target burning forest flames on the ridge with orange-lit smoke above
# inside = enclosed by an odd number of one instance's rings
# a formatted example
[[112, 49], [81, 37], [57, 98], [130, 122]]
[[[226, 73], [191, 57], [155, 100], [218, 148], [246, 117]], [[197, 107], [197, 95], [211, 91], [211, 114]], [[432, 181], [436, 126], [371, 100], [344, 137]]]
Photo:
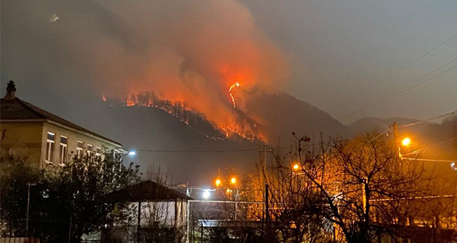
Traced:
[[138, 33], [140, 39], [107, 40], [113, 45], [96, 49], [103, 64], [96, 70], [100, 93], [124, 106], [160, 108], [215, 139], [266, 141], [272, 133], [261, 115], [248, 110], [248, 102], [255, 90], [281, 90], [290, 76], [288, 58], [241, 3], [216, 1], [206, 10], [180, 4], [185, 8], [178, 18], [151, 14], [156, 8], [144, 16], [120, 15], [132, 27], [125, 33]]

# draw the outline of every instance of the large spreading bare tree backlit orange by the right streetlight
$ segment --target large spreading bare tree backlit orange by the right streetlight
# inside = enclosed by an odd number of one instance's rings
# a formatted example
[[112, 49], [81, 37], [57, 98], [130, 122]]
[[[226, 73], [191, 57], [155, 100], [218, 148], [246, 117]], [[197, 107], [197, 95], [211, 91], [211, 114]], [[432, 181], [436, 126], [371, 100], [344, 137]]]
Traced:
[[394, 145], [374, 137], [334, 139], [318, 151], [307, 137], [296, 137], [300, 172], [326, 201], [321, 215], [348, 242], [372, 242], [381, 234], [396, 240], [409, 208], [399, 204], [427, 195], [423, 163], [401, 161]]

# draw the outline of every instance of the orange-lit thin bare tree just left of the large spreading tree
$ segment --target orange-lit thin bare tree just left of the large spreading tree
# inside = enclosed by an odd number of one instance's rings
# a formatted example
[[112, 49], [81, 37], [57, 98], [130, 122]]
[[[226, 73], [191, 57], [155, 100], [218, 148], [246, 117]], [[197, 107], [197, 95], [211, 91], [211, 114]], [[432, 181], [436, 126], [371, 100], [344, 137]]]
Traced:
[[269, 186], [270, 233], [277, 242], [327, 242], [332, 231], [321, 218], [324, 198], [303, 173], [293, 170], [297, 148], [286, 154], [273, 151], [275, 164], [266, 173]]

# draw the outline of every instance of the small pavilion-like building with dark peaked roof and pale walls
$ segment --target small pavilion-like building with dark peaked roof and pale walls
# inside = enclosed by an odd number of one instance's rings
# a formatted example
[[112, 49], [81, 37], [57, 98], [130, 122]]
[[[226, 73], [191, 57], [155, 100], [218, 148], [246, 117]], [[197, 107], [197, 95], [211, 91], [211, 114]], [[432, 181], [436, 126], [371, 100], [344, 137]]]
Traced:
[[129, 217], [109, 229], [102, 242], [189, 242], [189, 196], [143, 181], [109, 198], [129, 203]]

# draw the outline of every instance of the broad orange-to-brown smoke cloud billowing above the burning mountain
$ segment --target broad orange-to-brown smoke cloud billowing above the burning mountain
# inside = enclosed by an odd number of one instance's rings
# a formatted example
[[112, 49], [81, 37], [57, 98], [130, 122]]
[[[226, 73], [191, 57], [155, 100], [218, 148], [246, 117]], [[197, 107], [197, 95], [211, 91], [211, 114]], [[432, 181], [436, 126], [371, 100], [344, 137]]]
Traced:
[[251, 130], [261, 124], [239, 115], [248, 113], [246, 95], [276, 91], [289, 75], [284, 54], [235, 0], [72, 1], [76, 13], [50, 0], [42, 5], [59, 15], [43, 33], [65, 36], [56, 46], [106, 99], [154, 91], [219, 128]]

